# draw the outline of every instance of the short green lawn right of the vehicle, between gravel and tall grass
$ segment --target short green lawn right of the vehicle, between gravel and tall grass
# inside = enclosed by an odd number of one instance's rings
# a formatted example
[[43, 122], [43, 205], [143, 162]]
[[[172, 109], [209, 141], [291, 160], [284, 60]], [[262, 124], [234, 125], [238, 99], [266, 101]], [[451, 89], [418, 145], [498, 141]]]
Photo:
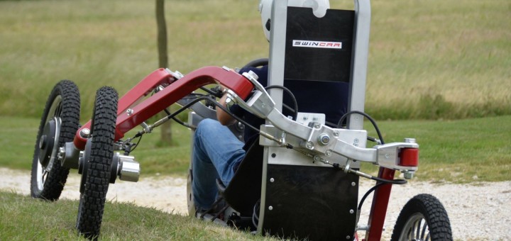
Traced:
[[[378, 122], [385, 142], [416, 138], [421, 181], [511, 180], [511, 116]], [[366, 130], [373, 130], [366, 123]], [[370, 132], [375, 136], [375, 132]], [[372, 167], [375, 173], [375, 167]]]

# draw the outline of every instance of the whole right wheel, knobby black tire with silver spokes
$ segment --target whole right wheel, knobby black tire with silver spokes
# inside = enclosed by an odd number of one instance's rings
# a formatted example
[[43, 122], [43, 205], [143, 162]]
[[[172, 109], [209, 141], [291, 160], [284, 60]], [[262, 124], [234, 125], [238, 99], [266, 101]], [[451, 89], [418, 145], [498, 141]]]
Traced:
[[414, 196], [397, 217], [391, 240], [453, 240], [444, 206], [432, 195]]

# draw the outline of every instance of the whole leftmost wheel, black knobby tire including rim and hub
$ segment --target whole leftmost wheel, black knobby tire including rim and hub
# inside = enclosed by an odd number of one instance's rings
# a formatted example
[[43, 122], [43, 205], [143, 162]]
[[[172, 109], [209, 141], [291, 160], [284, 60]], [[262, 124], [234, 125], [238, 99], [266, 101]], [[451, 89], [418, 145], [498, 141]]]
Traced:
[[60, 197], [69, 169], [60, 165], [57, 154], [59, 147], [75, 138], [79, 111], [76, 84], [69, 80], [57, 83], [46, 102], [35, 141], [31, 176], [33, 198], [55, 201]]

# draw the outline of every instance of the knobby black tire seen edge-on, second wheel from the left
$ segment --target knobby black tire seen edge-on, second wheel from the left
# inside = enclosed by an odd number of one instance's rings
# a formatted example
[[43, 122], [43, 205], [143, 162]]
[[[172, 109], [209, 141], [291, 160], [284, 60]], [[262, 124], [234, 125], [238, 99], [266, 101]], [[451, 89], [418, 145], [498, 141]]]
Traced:
[[103, 218], [106, 192], [109, 187], [110, 166], [114, 155], [114, 135], [119, 95], [111, 87], [97, 91], [92, 114], [91, 148], [85, 154], [87, 170], [82, 175], [84, 189], [80, 194], [77, 229], [89, 239], [97, 239]]

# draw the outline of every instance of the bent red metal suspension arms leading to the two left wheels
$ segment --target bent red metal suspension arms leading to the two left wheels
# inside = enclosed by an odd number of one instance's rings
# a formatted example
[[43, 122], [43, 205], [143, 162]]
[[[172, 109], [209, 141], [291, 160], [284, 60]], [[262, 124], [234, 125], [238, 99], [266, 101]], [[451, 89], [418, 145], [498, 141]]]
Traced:
[[[124, 134], [129, 130], [160, 113], [172, 105], [172, 103], [179, 101], [200, 86], [215, 83], [231, 89], [242, 99], [246, 99], [253, 89], [253, 84], [246, 77], [221, 67], [203, 67], [190, 72], [178, 80], [175, 80], [165, 69], [155, 70], [155, 72], [142, 79], [133, 89], [119, 99], [115, 140], [123, 138]], [[133, 103], [149, 94], [155, 87], [167, 84], [170, 85], [133, 106]], [[126, 113], [128, 108], [131, 108], [133, 112]], [[79, 133], [84, 128], [90, 129], [90, 125], [91, 120], [77, 130], [73, 142], [79, 150], [84, 150], [85, 143], [87, 142], [87, 138], [82, 138]]]

